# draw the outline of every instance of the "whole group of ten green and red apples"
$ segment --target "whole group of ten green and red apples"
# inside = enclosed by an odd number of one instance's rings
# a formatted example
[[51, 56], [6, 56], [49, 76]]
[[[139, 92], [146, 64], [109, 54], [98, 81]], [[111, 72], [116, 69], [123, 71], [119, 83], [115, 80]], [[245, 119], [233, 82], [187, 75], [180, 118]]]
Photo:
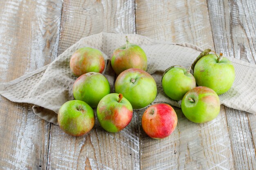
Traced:
[[[164, 93], [174, 100], [182, 100], [182, 112], [195, 123], [205, 123], [220, 112], [218, 95], [231, 88], [234, 67], [222, 54], [210, 54], [207, 49], [190, 68], [171, 66], [162, 76]], [[136, 44], [126, 44], [113, 52], [111, 66], [118, 75], [115, 93], [101, 73], [105, 60], [101, 51], [90, 47], [78, 49], [70, 59], [70, 69], [78, 78], [73, 85], [75, 100], [63, 104], [58, 112], [58, 124], [69, 135], [81, 136], [94, 126], [92, 108], [97, 108], [97, 118], [103, 129], [119, 132], [130, 123], [133, 109], [152, 103], [157, 95], [154, 78], [146, 72], [147, 57]], [[196, 87], [196, 84], [198, 86]], [[171, 135], [177, 125], [175, 110], [168, 104], [148, 107], [141, 119], [146, 134], [154, 139]]]

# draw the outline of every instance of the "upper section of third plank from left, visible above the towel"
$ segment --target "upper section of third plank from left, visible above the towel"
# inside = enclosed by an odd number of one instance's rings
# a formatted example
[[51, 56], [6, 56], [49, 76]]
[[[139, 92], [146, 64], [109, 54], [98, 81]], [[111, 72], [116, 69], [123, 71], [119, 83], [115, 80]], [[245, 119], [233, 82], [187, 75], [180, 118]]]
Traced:
[[205, 0], [136, 0], [136, 32], [172, 42], [213, 47]]

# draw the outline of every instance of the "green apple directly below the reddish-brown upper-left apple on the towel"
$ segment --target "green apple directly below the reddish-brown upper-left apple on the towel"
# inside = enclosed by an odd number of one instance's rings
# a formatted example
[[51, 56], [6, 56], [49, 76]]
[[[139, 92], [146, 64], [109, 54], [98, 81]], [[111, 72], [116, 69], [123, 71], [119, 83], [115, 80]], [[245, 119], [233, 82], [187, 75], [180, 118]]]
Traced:
[[82, 100], [92, 108], [110, 93], [110, 84], [101, 73], [90, 72], [81, 75], [73, 85], [73, 95], [76, 100]]

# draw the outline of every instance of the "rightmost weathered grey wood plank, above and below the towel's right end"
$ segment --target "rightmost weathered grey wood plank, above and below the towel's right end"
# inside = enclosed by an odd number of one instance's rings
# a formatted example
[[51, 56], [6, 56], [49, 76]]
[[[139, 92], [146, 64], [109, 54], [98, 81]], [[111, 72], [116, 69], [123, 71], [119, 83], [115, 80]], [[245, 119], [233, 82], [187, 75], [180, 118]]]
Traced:
[[[209, 0], [217, 52], [256, 63], [256, 2]], [[256, 115], [225, 107], [236, 169], [255, 169]]]

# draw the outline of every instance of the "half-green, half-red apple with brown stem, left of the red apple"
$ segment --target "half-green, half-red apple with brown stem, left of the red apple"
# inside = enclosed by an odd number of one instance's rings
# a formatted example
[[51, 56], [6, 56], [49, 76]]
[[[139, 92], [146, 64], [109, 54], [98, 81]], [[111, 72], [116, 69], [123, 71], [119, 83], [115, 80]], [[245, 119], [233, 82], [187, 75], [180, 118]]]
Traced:
[[103, 129], [119, 132], [132, 120], [132, 105], [121, 94], [108, 94], [99, 102], [97, 117]]

